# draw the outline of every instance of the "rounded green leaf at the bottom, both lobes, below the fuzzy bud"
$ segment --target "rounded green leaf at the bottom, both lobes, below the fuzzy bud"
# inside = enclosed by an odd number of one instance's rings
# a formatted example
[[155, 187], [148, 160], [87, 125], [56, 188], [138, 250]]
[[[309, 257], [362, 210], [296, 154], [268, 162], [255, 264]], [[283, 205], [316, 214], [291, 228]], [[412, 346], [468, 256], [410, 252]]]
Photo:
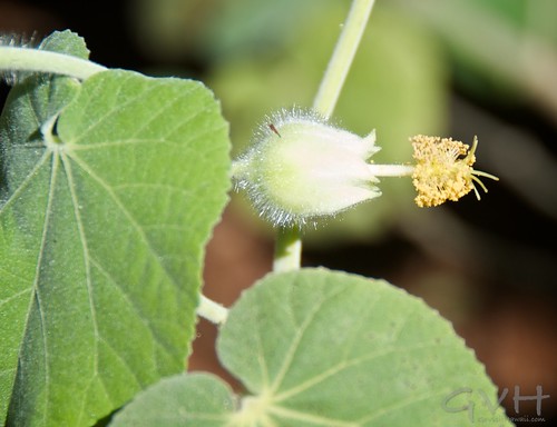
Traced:
[[180, 376], [139, 395], [113, 426], [510, 425], [451, 325], [381, 280], [270, 275], [232, 308], [217, 349], [248, 396]]

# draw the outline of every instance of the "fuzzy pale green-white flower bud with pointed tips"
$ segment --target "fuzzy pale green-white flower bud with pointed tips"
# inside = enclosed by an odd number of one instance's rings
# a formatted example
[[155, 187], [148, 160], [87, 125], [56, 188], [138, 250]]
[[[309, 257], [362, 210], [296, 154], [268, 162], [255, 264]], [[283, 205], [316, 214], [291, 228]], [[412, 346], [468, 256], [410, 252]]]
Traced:
[[283, 110], [258, 128], [235, 162], [236, 188], [275, 226], [302, 226], [381, 195], [368, 160], [375, 133], [361, 138], [314, 112]]

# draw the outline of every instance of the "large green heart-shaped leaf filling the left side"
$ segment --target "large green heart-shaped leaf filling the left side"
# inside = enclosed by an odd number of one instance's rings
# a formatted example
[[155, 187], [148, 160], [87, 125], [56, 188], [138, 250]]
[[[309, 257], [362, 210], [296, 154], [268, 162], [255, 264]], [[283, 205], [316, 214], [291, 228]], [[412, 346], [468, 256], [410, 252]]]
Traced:
[[229, 186], [203, 85], [101, 72], [48, 126], [56, 85], [26, 80], [1, 118], [0, 409], [16, 426], [94, 424], [184, 369]]

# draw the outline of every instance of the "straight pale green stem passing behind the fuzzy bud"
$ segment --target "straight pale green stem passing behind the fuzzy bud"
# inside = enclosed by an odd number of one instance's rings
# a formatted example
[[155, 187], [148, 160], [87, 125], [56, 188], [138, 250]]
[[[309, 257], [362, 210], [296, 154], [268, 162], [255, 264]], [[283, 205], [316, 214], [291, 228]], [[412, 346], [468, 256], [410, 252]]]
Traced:
[[[352, 66], [374, 0], [353, 0], [352, 2], [346, 22], [313, 101], [313, 109], [325, 118], [331, 117], [336, 106], [336, 100]], [[276, 232], [273, 270], [297, 270], [301, 266], [302, 238], [300, 229], [278, 230]]]

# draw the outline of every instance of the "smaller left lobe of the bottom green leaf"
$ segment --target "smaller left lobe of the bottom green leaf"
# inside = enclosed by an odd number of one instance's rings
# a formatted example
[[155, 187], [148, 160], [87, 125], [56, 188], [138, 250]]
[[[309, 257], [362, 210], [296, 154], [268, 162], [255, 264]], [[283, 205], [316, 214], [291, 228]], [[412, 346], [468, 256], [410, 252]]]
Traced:
[[176, 375], [138, 395], [110, 427], [217, 427], [226, 423], [235, 404], [232, 389], [212, 375]]

